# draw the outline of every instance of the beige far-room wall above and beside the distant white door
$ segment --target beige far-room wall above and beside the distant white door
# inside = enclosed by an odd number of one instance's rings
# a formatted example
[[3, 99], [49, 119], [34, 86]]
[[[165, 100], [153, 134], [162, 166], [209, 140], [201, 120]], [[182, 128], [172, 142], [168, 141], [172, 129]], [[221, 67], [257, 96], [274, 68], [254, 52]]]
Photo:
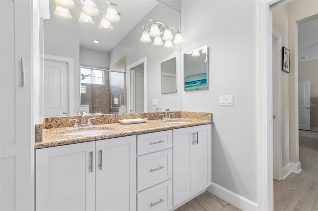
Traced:
[[310, 81], [310, 126], [318, 129], [318, 59], [298, 63], [298, 81]]

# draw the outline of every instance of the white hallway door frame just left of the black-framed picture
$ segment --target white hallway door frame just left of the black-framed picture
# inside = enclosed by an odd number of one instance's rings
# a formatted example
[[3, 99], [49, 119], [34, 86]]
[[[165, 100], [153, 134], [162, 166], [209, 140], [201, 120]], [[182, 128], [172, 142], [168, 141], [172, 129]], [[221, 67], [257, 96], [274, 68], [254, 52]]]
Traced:
[[[273, 98], [276, 100], [276, 104], [273, 101], [273, 176], [275, 180], [283, 179], [283, 155], [282, 155], [282, 71], [281, 69], [281, 49], [282, 49], [282, 35], [273, 27]], [[274, 63], [275, 62], [275, 63]], [[277, 69], [277, 71], [275, 70]], [[275, 83], [276, 82], [276, 83]], [[276, 89], [274, 89], [276, 87]], [[274, 124], [275, 122], [275, 124]], [[275, 137], [275, 139], [274, 139]], [[275, 140], [275, 141], [274, 141]]]

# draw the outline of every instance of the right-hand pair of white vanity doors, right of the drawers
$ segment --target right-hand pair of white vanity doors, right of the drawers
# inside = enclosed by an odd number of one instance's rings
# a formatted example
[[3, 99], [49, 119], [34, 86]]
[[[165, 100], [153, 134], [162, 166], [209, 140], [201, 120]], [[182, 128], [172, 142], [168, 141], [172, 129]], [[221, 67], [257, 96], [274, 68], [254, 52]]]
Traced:
[[211, 185], [211, 124], [173, 130], [173, 206]]

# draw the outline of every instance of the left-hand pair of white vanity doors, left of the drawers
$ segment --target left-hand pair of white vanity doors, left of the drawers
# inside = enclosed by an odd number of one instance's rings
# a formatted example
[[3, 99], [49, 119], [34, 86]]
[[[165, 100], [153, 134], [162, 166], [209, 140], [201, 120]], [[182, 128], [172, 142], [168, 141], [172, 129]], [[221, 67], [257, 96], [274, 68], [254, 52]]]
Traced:
[[135, 211], [136, 136], [36, 150], [36, 210]]

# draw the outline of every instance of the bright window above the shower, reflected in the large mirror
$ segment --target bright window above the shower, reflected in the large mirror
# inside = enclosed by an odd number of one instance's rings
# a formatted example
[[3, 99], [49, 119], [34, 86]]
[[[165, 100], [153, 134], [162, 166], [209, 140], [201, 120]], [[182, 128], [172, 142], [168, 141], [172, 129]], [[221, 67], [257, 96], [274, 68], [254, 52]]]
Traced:
[[105, 84], [104, 70], [80, 67], [80, 83], [82, 84]]

